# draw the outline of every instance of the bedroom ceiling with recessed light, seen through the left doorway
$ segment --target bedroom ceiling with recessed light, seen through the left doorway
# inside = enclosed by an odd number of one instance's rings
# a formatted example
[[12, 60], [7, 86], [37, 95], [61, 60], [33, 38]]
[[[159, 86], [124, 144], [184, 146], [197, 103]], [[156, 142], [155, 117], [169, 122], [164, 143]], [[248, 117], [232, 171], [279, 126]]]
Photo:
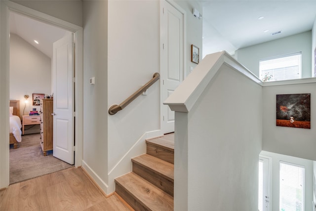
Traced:
[[53, 42], [63, 38], [66, 32], [64, 29], [10, 12], [10, 34], [20, 36], [49, 58], [52, 58]]

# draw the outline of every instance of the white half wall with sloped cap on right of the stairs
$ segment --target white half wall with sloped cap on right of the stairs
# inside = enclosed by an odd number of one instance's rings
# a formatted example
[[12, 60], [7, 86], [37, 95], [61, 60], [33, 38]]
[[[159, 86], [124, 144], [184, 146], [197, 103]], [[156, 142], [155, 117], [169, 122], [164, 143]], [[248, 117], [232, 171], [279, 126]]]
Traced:
[[262, 86], [241, 72], [227, 53], [207, 55], [165, 101], [176, 111], [176, 211], [258, 208]]

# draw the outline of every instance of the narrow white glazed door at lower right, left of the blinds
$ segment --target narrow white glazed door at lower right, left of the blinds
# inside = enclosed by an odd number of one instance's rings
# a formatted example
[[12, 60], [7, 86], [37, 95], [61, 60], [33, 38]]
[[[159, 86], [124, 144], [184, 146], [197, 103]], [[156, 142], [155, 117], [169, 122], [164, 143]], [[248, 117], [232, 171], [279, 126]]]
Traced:
[[258, 210], [269, 211], [269, 159], [259, 158]]

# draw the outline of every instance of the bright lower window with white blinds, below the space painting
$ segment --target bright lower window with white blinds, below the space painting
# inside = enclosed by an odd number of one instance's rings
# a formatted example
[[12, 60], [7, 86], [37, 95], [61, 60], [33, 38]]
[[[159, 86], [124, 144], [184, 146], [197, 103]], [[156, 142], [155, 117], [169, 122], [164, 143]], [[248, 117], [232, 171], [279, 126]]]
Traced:
[[280, 211], [304, 211], [305, 168], [280, 161]]

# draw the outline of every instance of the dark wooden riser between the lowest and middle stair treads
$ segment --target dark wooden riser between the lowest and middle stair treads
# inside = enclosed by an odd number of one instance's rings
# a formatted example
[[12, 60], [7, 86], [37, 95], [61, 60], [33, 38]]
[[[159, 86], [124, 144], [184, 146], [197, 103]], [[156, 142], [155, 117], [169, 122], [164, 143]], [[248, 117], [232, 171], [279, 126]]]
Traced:
[[137, 173], [147, 181], [156, 185], [158, 188], [173, 196], [174, 184], [172, 180], [168, 180], [165, 177], [160, 176], [159, 174], [153, 172], [151, 169], [146, 169], [133, 162], [133, 172]]

